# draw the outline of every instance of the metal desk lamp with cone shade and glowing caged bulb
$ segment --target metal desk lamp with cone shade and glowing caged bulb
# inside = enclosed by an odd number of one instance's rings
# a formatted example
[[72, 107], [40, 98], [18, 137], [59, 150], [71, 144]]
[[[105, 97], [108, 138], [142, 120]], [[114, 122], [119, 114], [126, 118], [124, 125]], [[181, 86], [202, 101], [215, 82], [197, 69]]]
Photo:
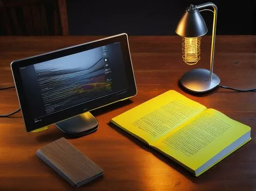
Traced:
[[[204, 9], [213, 7], [214, 11]], [[202, 9], [202, 10], [201, 10]], [[180, 79], [180, 83], [186, 89], [193, 92], [206, 92], [217, 87], [220, 78], [212, 73], [214, 66], [214, 47], [217, 21], [217, 6], [214, 3], [201, 5], [190, 5], [181, 17], [176, 33], [182, 37], [182, 59], [188, 65], [194, 65], [200, 60], [200, 41], [201, 37], [207, 33], [207, 27], [200, 11], [208, 10], [214, 13], [212, 24], [211, 52], [210, 52], [210, 71], [207, 69], [193, 69], [185, 73]]]

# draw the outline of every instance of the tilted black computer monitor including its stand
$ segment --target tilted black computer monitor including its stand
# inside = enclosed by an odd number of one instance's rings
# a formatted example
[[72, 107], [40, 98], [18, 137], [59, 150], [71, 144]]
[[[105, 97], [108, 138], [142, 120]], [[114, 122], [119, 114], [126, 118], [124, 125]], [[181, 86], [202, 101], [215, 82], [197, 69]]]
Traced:
[[27, 132], [55, 124], [70, 136], [95, 131], [89, 112], [136, 95], [127, 34], [11, 63]]

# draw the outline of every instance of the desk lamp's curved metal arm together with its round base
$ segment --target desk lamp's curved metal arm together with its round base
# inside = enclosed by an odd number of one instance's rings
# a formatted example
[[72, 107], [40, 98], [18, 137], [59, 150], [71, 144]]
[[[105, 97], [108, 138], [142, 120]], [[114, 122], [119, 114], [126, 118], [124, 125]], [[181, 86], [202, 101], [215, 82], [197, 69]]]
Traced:
[[[198, 93], [203, 93], [214, 89], [220, 84], [220, 78], [212, 72], [214, 67], [214, 49], [215, 49], [215, 36], [216, 36], [216, 22], [217, 22], [217, 6], [214, 3], [205, 3], [197, 6], [197, 9], [206, 7], [213, 7], [214, 21], [212, 23], [212, 36], [211, 36], [211, 52], [210, 52], [210, 71], [207, 69], [193, 69], [185, 73], [180, 79], [181, 84], [188, 90]], [[201, 11], [208, 10], [203, 9]]]

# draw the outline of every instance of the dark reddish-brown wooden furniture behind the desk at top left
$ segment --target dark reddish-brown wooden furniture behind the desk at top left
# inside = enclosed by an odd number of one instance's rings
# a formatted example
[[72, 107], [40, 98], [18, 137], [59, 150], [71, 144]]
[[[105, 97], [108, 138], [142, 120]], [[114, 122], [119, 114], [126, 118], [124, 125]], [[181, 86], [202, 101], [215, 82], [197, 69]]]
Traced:
[[5, 35], [69, 35], [66, 0], [0, 0]]

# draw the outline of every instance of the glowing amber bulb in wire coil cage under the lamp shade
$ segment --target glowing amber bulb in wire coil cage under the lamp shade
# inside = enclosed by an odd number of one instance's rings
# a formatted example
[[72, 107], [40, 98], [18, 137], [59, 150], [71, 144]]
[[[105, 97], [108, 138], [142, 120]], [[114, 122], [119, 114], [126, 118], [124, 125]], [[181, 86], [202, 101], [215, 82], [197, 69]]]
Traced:
[[182, 59], [188, 65], [194, 65], [200, 60], [200, 43], [199, 38], [182, 38]]

